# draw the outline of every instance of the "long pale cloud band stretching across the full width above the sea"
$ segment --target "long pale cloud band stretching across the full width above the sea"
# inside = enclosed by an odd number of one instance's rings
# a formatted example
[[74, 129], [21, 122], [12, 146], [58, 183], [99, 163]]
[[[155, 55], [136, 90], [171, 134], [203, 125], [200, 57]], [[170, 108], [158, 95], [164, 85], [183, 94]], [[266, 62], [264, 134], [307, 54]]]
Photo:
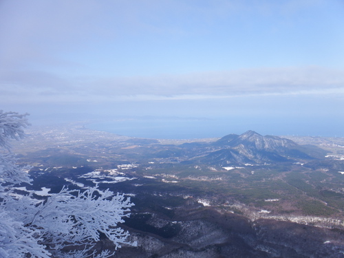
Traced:
[[0, 81], [1, 102], [5, 103], [204, 100], [274, 94], [343, 95], [344, 92], [344, 72], [322, 67], [239, 69], [125, 78], [61, 77], [25, 70], [0, 74]]

